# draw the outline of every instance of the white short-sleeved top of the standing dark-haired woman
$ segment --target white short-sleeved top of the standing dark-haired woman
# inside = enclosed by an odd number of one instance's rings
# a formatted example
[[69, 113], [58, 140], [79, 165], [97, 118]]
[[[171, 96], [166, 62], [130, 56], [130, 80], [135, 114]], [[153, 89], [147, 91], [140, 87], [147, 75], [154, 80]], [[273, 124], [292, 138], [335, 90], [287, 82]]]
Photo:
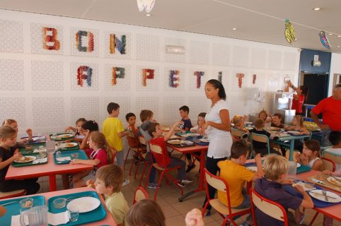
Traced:
[[[205, 121], [212, 121], [216, 124], [222, 124], [220, 118], [220, 111], [222, 109], [229, 109], [226, 101], [219, 100], [207, 112]], [[206, 129], [207, 137], [209, 138], [208, 157], [222, 158], [231, 155], [232, 137], [229, 131], [222, 131], [212, 126]]]

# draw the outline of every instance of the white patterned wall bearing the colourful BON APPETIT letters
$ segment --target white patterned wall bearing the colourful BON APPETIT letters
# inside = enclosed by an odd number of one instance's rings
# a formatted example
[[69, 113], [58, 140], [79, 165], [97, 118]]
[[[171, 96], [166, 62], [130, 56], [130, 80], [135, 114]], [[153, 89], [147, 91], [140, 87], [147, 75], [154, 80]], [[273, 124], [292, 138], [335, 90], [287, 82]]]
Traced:
[[[57, 28], [59, 51], [42, 49], [44, 26]], [[248, 100], [250, 88], [267, 93], [282, 90], [284, 76], [296, 83], [299, 73], [298, 49], [274, 44], [5, 10], [0, 10], [0, 30], [0, 120], [17, 119], [20, 134], [28, 126], [36, 133], [61, 131], [79, 117], [102, 124], [111, 101], [120, 104], [125, 124], [127, 112], [138, 116], [141, 109], [151, 109], [163, 124], [173, 123], [180, 119], [182, 105], [190, 107], [195, 122], [197, 114], [209, 108], [204, 83], [217, 78], [219, 71], [223, 71], [231, 117], [249, 114], [269, 109], [271, 99], [269, 94], [267, 102]], [[78, 52], [78, 30], [93, 32], [93, 52]], [[127, 35], [127, 54], [108, 53], [109, 33]], [[168, 44], [184, 46], [185, 55], [167, 54]], [[76, 69], [81, 65], [93, 68], [91, 88], [76, 84]], [[112, 66], [126, 69], [126, 77], [118, 79], [116, 86], [110, 85]], [[142, 68], [156, 70], [155, 79], [147, 81], [146, 87], [141, 85]], [[171, 69], [180, 70], [178, 88], [168, 85]], [[205, 72], [200, 89], [195, 88], [196, 70]], [[238, 88], [236, 73], [245, 73], [242, 88]]]

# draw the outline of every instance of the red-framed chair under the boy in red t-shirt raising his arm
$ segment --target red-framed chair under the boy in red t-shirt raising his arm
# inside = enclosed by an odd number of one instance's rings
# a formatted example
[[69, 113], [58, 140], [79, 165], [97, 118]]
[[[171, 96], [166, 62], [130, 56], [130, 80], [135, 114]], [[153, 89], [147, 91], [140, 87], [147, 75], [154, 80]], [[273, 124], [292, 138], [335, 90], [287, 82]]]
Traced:
[[[149, 143], [149, 149], [150, 149], [151, 153], [155, 153], [156, 155], [162, 155], [163, 156], [163, 162], [166, 162], [165, 155], [163, 155], [163, 150], [159, 145], [154, 145], [152, 143]], [[177, 170], [180, 167], [172, 167], [172, 168], [159, 167], [158, 163], [155, 162], [149, 168], [149, 172], [147, 174], [148, 177], [146, 179], [147, 181], [148, 181], [149, 175], [151, 174], [151, 168], [152, 167], [154, 167], [156, 170], [158, 170], [158, 172], [161, 172], [160, 178], [158, 179], [158, 186], [156, 187], [156, 191], [154, 194], [154, 201], [156, 201], [156, 197], [158, 195], [158, 189], [160, 188], [160, 184], [161, 184], [161, 180], [162, 180], [163, 176], [165, 176], [165, 178], [168, 179], [169, 181], [173, 182], [173, 184], [175, 184], [175, 186], [177, 186], [180, 189], [181, 195], [183, 195], [183, 188], [181, 186], [179, 186], [178, 184], [176, 184], [175, 178], [172, 177], [171, 174], [169, 174], [170, 171]], [[167, 181], [167, 183], [168, 183], [168, 181]]]

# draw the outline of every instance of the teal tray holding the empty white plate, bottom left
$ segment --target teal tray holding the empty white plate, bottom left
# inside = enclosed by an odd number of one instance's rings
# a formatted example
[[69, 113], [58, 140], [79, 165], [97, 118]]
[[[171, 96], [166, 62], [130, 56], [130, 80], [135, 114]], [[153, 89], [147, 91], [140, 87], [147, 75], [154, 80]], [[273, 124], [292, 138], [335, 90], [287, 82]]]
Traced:
[[[47, 200], [47, 209], [50, 213], [62, 213], [67, 210], [67, 206], [64, 208], [54, 208], [53, 201], [56, 198], [71, 198], [71, 197], [79, 197], [79, 196], [93, 196], [95, 198], [98, 198], [98, 194], [95, 191], [83, 191], [79, 193], [74, 193], [74, 194], [66, 194], [63, 196], [54, 196], [52, 198], [49, 198]], [[98, 220], [103, 220], [105, 216], [107, 215], [107, 212], [105, 212], [105, 208], [103, 206], [103, 203], [100, 203], [100, 206], [96, 208], [95, 210], [92, 210], [91, 212], [87, 213], [79, 213], [79, 218], [75, 222], [67, 222], [66, 224], [63, 225], [85, 225], [89, 222], [96, 222]]]

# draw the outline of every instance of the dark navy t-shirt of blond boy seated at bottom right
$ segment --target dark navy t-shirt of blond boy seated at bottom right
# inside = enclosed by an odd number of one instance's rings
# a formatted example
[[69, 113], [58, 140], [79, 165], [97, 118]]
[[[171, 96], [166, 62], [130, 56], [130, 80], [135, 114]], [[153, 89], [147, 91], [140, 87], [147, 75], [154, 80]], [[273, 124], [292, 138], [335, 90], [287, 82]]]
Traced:
[[[296, 210], [302, 203], [301, 198], [297, 198], [296, 196], [287, 193], [287, 191], [284, 191], [282, 184], [268, 181], [264, 177], [255, 181], [255, 191], [261, 196], [281, 204], [287, 211], [288, 208]], [[274, 219], [269, 215], [262, 213], [262, 211], [257, 208], [255, 214], [258, 221], [257, 225], [284, 225], [283, 221]]]

